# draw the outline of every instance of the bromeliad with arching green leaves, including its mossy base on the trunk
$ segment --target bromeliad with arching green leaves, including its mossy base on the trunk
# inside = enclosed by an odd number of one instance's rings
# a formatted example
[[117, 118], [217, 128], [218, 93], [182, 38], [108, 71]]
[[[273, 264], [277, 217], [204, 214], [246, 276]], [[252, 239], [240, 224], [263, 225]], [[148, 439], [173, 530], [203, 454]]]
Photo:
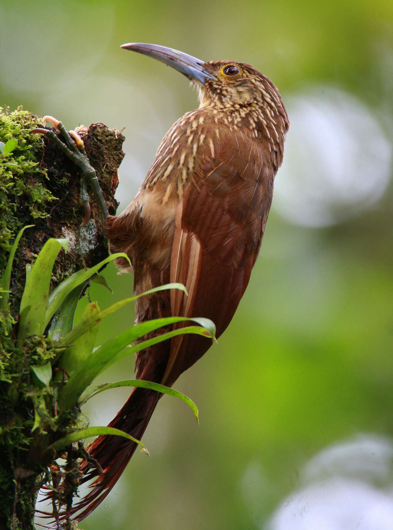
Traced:
[[[137, 297], [126, 298], [105, 310], [92, 302], [86, 306], [82, 321], [74, 325], [78, 300], [90, 281], [106, 285], [98, 273], [106, 263], [119, 257], [128, 258], [126, 254], [112, 254], [95, 267], [77, 271], [50, 293], [52, 268], [59, 252], [67, 251], [66, 239], [49, 239], [33, 266], [27, 267], [16, 322], [10, 314], [10, 279], [14, 255], [25, 228], [15, 239], [0, 282], [0, 527], [4, 524], [15, 530], [34, 528], [35, 498], [43, 486], [53, 492], [55, 516], [59, 509], [66, 512], [70, 509], [81, 479], [78, 458], [88, 458], [81, 439], [97, 435], [124, 436], [148, 454], [145, 445], [126, 432], [102, 426], [82, 427], [80, 407], [96, 394], [119, 386], [151, 388], [185, 401], [198, 421], [195, 404], [172, 388], [132, 379], [91, 386], [97, 375], [124, 356], [177, 334], [197, 333], [215, 338], [215, 325], [208, 319], [169, 317], [135, 325], [95, 348], [99, 323]], [[168, 284], [139, 296], [163, 289], [185, 291], [181, 284]], [[147, 333], [184, 320], [196, 325], [132, 346]], [[65, 465], [59, 466], [56, 462], [59, 457], [66, 460]], [[61, 498], [56, 494], [60, 482], [67, 484]]]

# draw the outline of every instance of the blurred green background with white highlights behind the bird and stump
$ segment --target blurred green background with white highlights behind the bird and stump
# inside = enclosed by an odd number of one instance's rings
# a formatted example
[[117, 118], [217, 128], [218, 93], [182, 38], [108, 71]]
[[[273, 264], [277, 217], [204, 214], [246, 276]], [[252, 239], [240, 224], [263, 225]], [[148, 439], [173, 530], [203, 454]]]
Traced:
[[[393, 528], [393, 3], [68, 0], [0, 4], [0, 104], [124, 130], [119, 213], [197, 95], [121, 50], [153, 42], [253, 64], [291, 121], [260, 258], [218, 346], [165, 396], [137, 452], [81, 528]], [[105, 272], [101, 307], [132, 277]], [[102, 343], [132, 324], [103, 323]], [[131, 378], [133, 358], [104, 381]], [[127, 391], [86, 409], [91, 425]], [[94, 408], [93, 408], [94, 406]]]

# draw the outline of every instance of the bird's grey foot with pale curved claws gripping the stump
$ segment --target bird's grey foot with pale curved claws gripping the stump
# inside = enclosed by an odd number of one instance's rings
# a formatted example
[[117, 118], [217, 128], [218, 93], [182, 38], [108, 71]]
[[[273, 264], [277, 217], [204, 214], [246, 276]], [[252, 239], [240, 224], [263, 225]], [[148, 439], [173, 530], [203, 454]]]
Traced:
[[85, 226], [91, 216], [91, 208], [89, 204], [90, 201], [87, 193], [88, 183], [93, 189], [97, 205], [100, 209], [102, 221], [103, 223], [105, 223], [105, 220], [109, 215], [108, 207], [106, 206], [104, 196], [102, 195], [102, 190], [100, 188], [95, 169], [88, 160], [83, 140], [75, 131], [67, 132], [66, 128], [61, 123], [61, 121], [57, 120], [56, 118], [52, 118], [51, 116], [44, 116], [42, 118], [43, 125], [45, 125], [47, 121], [53, 124], [53, 127], [55, 127], [55, 129], [57, 129], [61, 136], [65, 139], [65, 142], [62, 142], [61, 139], [56, 136], [56, 134], [50, 129], [37, 128], [33, 129], [31, 133], [43, 134], [49, 140], [52, 140], [52, 142], [55, 143], [70, 160], [72, 160], [77, 166], [81, 168], [82, 179], [81, 192], [79, 194], [79, 204], [81, 206], [84, 206], [85, 208], [85, 217], [81, 223], [81, 226]]

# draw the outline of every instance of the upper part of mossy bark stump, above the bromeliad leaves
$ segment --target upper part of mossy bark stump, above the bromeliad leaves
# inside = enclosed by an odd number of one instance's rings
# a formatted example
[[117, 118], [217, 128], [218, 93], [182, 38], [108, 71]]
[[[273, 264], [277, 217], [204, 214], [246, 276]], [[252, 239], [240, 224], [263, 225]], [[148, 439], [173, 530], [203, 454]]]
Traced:
[[[31, 134], [42, 121], [22, 108], [0, 111], [0, 141], [17, 140], [7, 162], [0, 164], [0, 276], [4, 271], [10, 242], [22, 226], [34, 224], [24, 232], [14, 264], [12, 309], [19, 306], [25, 267], [34, 261], [49, 237], [66, 237], [67, 254], [61, 253], [53, 270], [53, 285], [84, 267], [91, 267], [109, 253], [101, 217], [90, 192], [92, 217], [79, 227], [84, 209], [79, 205], [81, 174], [79, 168], [47, 138]], [[96, 170], [109, 213], [114, 215], [118, 202], [117, 169], [123, 159], [124, 136], [103, 123], [76, 128], [84, 141], [87, 155]], [[57, 133], [57, 131], [56, 131]]]

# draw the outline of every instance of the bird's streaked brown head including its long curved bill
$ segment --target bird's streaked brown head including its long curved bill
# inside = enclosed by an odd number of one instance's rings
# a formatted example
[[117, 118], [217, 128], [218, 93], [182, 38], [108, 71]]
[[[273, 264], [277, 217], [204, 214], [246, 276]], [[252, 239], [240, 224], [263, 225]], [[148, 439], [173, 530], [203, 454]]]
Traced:
[[269, 143], [271, 140], [272, 144], [283, 144], [289, 121], [281, 95], [270, 79], [253, 66], [236, 61], [205, 63], [153, 44], [124, 44], [122, 48], [154, 57], [184, 74], [198, 87], [200, 108], [233, 113], [252, 136], [265, 136]]

